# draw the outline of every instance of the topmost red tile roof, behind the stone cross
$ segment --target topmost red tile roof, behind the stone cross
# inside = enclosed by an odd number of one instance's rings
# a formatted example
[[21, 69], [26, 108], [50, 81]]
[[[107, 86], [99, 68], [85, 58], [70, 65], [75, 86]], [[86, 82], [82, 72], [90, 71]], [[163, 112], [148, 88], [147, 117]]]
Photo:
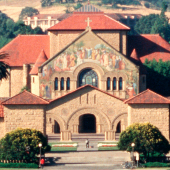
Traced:
[[72, 16], [59, 22], [49, 28], [49, 31], [54, 30], [85, 30], [87, 27], [87, 18], [90, 18], [90, 27], [92, 30], [130, 30], [129, 27], [123, 25], [119, 21], [110, 18], [103, 12], [76, 12]]

